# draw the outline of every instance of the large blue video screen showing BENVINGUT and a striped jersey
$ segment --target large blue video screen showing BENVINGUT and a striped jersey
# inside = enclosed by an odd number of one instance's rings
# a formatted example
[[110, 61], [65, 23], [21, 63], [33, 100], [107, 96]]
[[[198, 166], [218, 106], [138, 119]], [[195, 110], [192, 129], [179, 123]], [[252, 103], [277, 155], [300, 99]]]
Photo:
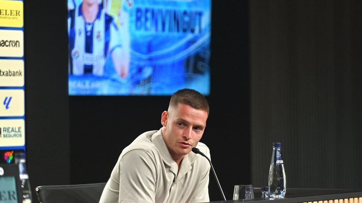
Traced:
[[211, 0], [68, 0], [69, 95], [210, 92]]

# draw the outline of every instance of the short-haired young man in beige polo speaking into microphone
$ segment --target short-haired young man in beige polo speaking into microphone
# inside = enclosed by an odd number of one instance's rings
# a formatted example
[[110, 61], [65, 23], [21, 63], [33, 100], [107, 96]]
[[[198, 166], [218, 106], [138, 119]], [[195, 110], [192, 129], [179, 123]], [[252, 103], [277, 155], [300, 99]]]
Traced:
[[100, 203], [209, 202], [209, 162], [191, 152], [197, 147], [210, 158], [209, 148], [199, 142], [208, 115], [209, 105], [199, 92], [175, 92], [161, 115], [163, 127], [139, 135], [123, 149]]

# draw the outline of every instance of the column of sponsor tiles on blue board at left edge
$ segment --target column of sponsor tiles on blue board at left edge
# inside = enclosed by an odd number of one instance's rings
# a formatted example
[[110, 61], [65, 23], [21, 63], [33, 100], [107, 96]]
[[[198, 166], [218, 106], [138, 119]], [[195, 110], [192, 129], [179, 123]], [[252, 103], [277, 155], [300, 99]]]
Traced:
[[25, 151], [24, 9], [0, 0], [0, 163]]

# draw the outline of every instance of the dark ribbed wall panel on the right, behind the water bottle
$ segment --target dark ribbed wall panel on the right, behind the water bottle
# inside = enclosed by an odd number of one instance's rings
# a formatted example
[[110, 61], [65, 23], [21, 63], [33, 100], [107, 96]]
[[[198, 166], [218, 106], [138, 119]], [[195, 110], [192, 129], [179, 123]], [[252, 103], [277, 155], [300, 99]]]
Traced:
[[252, 183], [361, 188], [361, 3], [251, 1]]

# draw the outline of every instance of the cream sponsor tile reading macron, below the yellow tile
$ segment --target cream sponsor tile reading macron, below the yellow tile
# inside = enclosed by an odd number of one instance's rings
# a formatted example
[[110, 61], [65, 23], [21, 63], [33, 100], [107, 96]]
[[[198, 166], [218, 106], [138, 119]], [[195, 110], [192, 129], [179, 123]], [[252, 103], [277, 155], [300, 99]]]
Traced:
[[24, 32], [0, 30], [0, 56], [22, 57], [24, 55]]

